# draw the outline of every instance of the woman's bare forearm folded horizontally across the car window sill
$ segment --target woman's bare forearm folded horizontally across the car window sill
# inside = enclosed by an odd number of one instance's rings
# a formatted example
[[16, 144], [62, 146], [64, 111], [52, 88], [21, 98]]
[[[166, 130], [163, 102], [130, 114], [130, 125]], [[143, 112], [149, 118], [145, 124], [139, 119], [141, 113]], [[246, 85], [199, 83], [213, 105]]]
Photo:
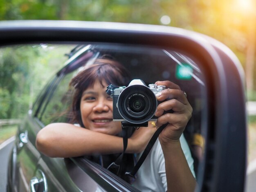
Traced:
[[[123, 151], [123, 138], [111, 136], [68, 123], [52, 123], [38, 132], [36, 147], [46, 156], [74, 157], [92, 154], [113, 154]], [[128, 139], [127, 152], [137, 152]]]

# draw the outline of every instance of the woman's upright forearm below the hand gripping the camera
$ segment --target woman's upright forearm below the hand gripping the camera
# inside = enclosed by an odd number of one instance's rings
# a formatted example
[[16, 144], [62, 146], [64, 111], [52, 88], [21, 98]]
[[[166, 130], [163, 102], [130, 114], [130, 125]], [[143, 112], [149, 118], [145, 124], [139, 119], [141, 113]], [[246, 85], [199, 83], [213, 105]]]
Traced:
[[193, 192], [196, 181], [191, 173], [180, 142], [163, 144], [168, 191]]

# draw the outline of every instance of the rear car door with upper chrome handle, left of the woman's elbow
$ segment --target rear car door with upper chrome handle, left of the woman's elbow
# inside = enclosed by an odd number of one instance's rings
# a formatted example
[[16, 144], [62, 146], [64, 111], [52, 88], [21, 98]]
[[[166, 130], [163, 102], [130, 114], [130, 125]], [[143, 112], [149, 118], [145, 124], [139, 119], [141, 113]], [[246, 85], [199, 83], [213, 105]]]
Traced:
[[40, 153], [36, 149], [35, 143], [36, 134], [40, 130], [40, 122], [35, 118], [35, 114], [38, 106], [47, 98], [47, 94], [55, 83], [56, 78], [49, 81], [42, 93], [38, 96], [38, 100], [35, 102], [33, 109], [28, 111], [25, 120], [18, 128], [16, 145], [14, 147], [17, 156], [17, 166], [13, 169], [13, 172], [16, 171], [16, 173], [18, 173], [18, 177], [14, 178], [13, 182], [16, 183], [14, 186], [17, 186], [19, 191], [29, 190], [30, 179], [34, 176], [34, 172], [36, 171]]

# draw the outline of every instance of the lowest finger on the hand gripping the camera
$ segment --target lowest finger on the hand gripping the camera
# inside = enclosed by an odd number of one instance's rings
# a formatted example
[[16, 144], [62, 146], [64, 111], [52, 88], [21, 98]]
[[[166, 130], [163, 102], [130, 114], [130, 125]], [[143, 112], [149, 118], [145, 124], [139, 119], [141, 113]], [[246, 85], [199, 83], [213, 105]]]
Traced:
[[181, 127], [184, 128], [186, 126], [190, 117], [191, 116], [186, 114], [167, 113], [157, 118], [155, 125], [160, 127], [166, 123], [170, 123], [177, 129], [180, 129]]

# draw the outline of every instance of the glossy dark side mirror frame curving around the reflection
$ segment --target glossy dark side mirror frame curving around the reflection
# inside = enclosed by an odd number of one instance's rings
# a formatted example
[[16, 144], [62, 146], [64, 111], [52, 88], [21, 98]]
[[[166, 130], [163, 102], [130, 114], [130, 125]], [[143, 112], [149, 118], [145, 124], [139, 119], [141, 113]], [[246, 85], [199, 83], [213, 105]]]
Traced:
[[232, 52], [204, 35], [155, 25], [80, 21], [3, 21], [0, 47], [30, 43], [106, 42], [189, 53], [204, 63], [208, 128], [196, 191], [243, 191], [247, 122], [243, 70]]

